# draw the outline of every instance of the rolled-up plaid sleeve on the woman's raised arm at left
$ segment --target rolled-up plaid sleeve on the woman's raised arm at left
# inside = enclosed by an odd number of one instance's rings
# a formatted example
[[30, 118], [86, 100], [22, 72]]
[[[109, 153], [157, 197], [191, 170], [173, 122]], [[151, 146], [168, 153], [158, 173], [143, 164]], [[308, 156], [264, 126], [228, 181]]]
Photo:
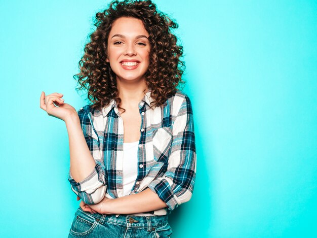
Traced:
[[105, 166], [102, 159], [102, 148], [98, 133], [94, 128], [93, 118], [89, 112], [88, 106], [77, 111], [80, 118], [83, 134], [87, 142], [88, 148], [96, 162], [93, 171], [80, 182], [76, 182], [70, 173], [68, 173], [68, 181], [70, 182], [72, 191], [77, 194], [85, 203], [92, 205], [100, 202], [106, 192], [107, 181], [105, 179]]

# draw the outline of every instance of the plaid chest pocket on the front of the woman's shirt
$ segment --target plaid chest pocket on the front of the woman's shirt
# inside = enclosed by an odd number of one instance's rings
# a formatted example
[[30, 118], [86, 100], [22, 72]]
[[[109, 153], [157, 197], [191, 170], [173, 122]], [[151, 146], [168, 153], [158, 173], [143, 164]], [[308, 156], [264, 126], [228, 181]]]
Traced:
[[170, 127], [161, 127], [154, 131], [152, 143], [155, 161], [168, 163], [172, 138]]

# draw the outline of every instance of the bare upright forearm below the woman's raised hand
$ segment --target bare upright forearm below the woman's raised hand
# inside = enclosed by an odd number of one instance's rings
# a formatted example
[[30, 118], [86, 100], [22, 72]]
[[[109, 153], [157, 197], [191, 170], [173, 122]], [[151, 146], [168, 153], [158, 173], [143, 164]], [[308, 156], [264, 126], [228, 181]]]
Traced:
[[65, 120], [68, 132], [70, 173], [76, 182], [85, 179], [96, 166], [86, 143], [80, 119], [73, 115]]

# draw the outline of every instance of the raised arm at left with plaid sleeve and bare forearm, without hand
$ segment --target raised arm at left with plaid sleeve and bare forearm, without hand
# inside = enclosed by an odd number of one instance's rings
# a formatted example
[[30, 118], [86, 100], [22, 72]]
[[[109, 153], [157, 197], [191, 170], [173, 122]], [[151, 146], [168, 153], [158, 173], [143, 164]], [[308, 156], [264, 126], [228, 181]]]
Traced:
[[77, 114], [65, 121], [70, 151], [68, 180], [85, 203], [95, 204], [105, 195], [105, 168], [90, 112], [84, 107]]

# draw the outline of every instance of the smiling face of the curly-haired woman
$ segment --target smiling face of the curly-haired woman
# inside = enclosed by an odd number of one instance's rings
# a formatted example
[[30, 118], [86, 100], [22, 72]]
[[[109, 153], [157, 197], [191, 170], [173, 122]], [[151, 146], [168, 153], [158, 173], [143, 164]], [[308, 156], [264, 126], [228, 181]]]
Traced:
[[140, 19], [116, 19], [109, 32], [108, 57], [117, 80], [144, 80], [149, 65], [149, 34]]

